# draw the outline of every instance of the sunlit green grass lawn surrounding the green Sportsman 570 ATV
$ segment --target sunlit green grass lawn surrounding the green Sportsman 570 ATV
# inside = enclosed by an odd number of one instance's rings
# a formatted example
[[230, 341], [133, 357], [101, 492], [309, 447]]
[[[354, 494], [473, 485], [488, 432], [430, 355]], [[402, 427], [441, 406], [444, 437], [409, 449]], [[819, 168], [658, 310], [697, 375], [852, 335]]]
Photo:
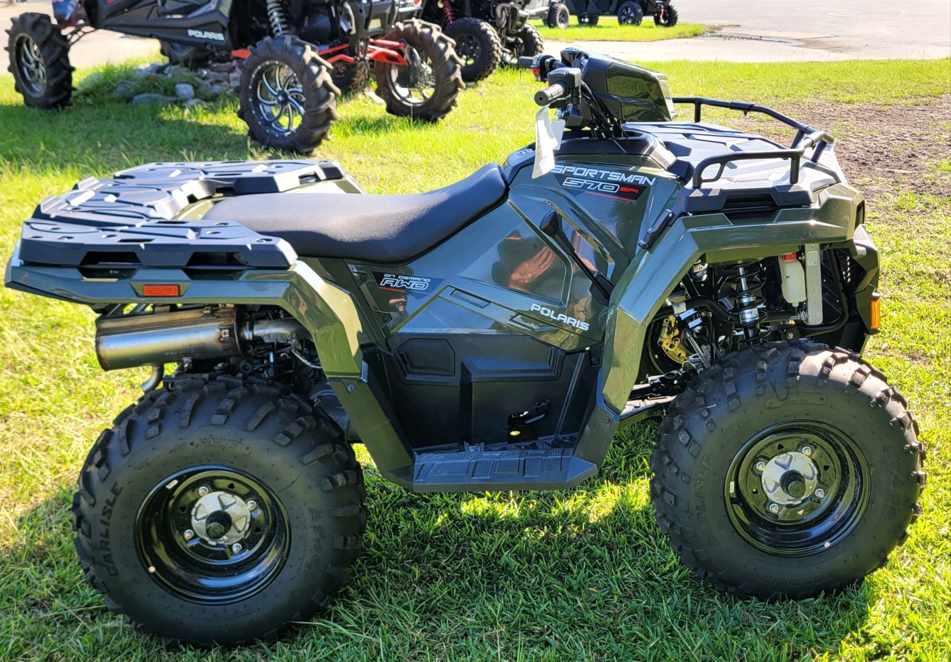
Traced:
[[[177, 659], [951, 657], [951, 451], [940, 443], [951, 437], [951, 161], [941, 149], [951, 124], [936, 110], [948, 107], [951, 61], [652, 66], [676, 94], [774, 104], [806, 122], [820, 110], [934, 110], [934, 122], [897, 125], [887, 134], [900, 138], [885, 141], [914, 154], [937, 144], [921, 177], [875, 179], [860, 161], [871, 129], [858, 120], [823, 126], [844, 137], [846, 173], [875, 187], [868, 226], [882, 252], [883, 332], [867, 354], [907, 396], [928, 447], [924, 512], [890, 563], [853, 589], [803, 602], [716, 593], [677, 562], [654, 524], [651, 425], [619, 436], [602, 474], [565, 492], [412, 495], [383, 482], [360, 447], [365, 552], [334, 606], [278, 644]], [[378, 193], [459, 179], [531, 140], [535, 85], [519, 78], [500, 71], [465, 91], [435, 127], [358, 97], [340, 104], [333, 140], [317, 156], [340, 160]], [[76, 180], [143, 161], [272, 156], [247, 142], [235, 108], [229, 97], [192, 114], [106, 101], [39, 112], [0, 76], [0, 267], [33, 206]], [[79, 306], [0, 289], [0, 659], [166, 654], [107, 611], [72, 549], [79, 466], [144, 377], [99, 369], [92, 319]]]

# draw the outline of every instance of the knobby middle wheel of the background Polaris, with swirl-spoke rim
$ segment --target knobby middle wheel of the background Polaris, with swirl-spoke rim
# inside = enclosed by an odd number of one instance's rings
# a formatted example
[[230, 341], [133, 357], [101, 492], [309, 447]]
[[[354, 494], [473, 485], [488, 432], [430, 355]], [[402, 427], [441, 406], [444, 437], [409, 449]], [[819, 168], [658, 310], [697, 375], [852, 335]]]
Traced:
[[[241, 66], [238, 117], [247, 123], [248, 133], [258, 142], [301, 154], [312, 152], [330, 133], [330, 125], [340, 119], [336, 109], [340, 90], [330, 78], [330, 65], [310, 44], [289, 35], [266, 37], [250, 50]], [[262, 108], [273, 107], [263, 104], [270, 103], [270, 99], [262, 100], [262, 95], [270, 95], [262, 82], [269, 70], [289, 70], [300, 85], [289, 88], [292, 94], [288, 96], [293, 99], [289, 107], [301, 117], [293, 130], [273, 127], [264, 115]]]

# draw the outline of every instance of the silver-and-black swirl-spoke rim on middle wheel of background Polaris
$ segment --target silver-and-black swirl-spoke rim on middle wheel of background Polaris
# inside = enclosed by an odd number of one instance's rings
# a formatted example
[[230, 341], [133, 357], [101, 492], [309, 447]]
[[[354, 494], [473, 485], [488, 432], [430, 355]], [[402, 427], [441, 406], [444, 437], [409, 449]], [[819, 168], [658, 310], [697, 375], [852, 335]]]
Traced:
[[265, 62], [251, 76], [253, 108], [268, 133], [289, 136], [303, 122], [303, 86], [297, 74], [282, 62]]

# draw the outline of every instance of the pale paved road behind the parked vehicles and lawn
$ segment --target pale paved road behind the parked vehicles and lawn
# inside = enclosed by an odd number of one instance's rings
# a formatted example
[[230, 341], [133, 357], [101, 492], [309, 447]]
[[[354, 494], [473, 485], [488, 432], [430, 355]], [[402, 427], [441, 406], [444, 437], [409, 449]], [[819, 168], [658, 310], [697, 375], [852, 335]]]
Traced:
[[[2, 0], [0, 0], [2, 2]], [[630, 60], [784, 62], [951, 56], [951, 2], [916, 0], [674, 0], [681, 20], [723, 26], [717, 36], [653, 43], [589, 42], [585, 47]], [[0, 29], [22, 11], [49, 3], [0, 5]], [[549, 42], [557, 53], [567, 44]], [[94, 32], [72, 48], [74, 66], [118, 62], [157, 49], [150, 39]], [[0, 71], [7, 53], [0, 51]], [[951, 75], [951, 74], [949, 74]]]

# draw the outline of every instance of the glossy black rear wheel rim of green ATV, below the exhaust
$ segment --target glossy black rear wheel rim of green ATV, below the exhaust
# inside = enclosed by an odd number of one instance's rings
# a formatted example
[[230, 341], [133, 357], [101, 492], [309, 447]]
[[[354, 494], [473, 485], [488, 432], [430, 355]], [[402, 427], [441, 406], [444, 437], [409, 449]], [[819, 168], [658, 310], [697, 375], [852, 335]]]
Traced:
[[290, 540], [290, 522], [275, 494], [224, 466], [169, 476], [149, 492], [135, 524], [136, 551], [149, 576], [194, 602], [258, 593], [281, 572]]

